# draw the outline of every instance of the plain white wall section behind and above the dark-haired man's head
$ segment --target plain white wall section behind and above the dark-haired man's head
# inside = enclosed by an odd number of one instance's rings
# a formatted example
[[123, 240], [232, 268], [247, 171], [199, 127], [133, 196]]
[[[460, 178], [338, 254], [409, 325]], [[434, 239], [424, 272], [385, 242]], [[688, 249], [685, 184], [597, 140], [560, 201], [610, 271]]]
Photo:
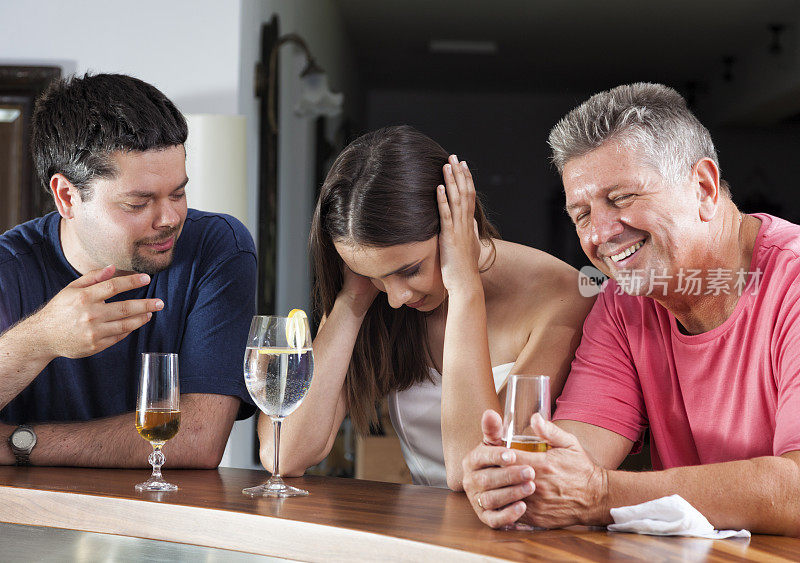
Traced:
[[184, 113], [236, 113], [239, 11], [217, 0], [4, 2], [0, 64], [131, 74]]

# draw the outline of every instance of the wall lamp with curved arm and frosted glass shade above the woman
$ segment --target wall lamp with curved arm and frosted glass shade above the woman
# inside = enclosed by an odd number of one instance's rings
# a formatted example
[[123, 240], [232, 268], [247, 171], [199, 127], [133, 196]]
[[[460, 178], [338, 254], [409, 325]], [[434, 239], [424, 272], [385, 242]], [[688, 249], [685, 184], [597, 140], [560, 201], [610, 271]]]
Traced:
[[278, 59], [278, 50], [282, 45], [287, 43], [294, 43], [300, 47], [306, 56], [306, 67], [300, 73], [300, 80], [302, 83], [302, 91], [300, 98], [294, 106], [294, 113], [300, 117], [318, 117], [325, 115], [327, 117], [334, 117], [342, 112], [342, 104], [344, 103], [344, 96], [342, 94], [335, 94], [331, 92], [328, 86], [328, 75], [322, 70], [322, 67], [317, 64], [316, 59], [311, 55], [308, 45], [305, 40], [296, 33], [287, 33], [282, 35], [275, 42], [272, 47], [269, 58], [269, 89], [268, 89], [268, 103], [269, 108], [269, 124], [273, 133], [278, 132], [278, 124], [275, 119], [275, 96], [276, 96], [276, 77], [275, 69]]

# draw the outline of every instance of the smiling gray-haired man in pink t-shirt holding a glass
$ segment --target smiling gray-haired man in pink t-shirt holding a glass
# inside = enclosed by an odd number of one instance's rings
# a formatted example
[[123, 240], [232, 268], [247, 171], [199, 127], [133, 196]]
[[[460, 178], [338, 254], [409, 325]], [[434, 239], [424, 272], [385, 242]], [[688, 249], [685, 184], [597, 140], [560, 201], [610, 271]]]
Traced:
[[[717, 528], [800, 534], [800, 227], [734, 205], [705, 127], [674, 90], [619, 86], [552, 130], [566, 208], [612, 279], [584, 325], [546, 453], [464, 459], [492, 527], [608, 524], [680, 494]], [[650, 430], [653, 471], [616, 468]], [[490, 444], [490, 445], [487, 445]]]

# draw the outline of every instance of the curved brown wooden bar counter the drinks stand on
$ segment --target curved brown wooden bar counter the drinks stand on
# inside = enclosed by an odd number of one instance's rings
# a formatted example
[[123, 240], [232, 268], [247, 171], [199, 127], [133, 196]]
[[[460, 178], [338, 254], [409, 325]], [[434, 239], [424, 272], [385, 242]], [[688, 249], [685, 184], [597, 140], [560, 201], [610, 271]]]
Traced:
[[800, 539], [659, 538], [574, 527], [498, 531], [463, 494], [303, 477], [307, 497], [250, 499], [266, 480], [242, 469], [164, 468], [173, 493], [134, 491], [147, 470], [0, 467], [0, 522], [102, 532], [303, 561], [796, 561]]

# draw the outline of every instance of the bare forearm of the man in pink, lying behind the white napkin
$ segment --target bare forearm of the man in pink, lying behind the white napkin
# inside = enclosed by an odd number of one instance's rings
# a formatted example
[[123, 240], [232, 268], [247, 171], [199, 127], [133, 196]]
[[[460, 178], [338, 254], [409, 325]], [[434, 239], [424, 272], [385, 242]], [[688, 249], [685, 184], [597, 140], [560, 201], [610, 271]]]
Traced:
[[679, 494], [717, 529], [798, 536], [800, 467], [789, 458], [796, 453], [644, 473], [608, 471], [607, 502], [597, 523], [612, 522], [610, 508]]

